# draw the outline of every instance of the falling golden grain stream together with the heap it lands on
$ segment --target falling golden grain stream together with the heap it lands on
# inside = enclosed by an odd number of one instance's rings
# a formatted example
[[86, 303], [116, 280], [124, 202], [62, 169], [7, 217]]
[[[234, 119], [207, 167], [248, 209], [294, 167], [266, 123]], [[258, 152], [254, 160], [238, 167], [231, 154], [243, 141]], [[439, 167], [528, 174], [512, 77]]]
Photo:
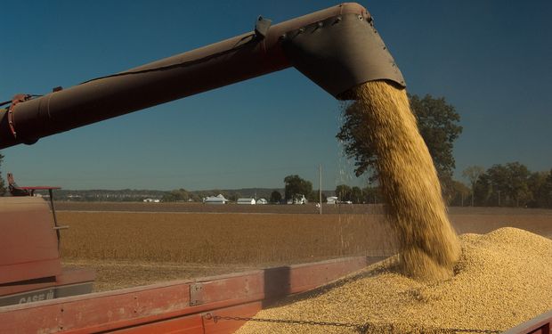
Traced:
[[[552, 240], [515, 228], [458, 237], [405, 90], [374, 81], [354, 93], [398, 254], [256, 318], [357, 323], [369, 333], [493, 333], [552, 308]], [[314, 332], [358, 329], [248, 322], [239, 330]]]

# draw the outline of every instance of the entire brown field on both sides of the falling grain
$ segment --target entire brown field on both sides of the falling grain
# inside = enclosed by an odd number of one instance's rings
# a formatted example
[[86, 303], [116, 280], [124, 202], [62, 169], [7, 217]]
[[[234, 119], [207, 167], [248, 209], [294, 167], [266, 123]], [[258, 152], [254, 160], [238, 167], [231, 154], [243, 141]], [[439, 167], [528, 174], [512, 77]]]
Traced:
[[[311, 205], [56, 205], [59, 223], [70, 226], [61, 232], [63, 262], [94, 268], [96, 290], [394, 253], [381, 208], [327, 207], [317, 215]], [[513, 226], [552, 238], [552, 210], [451, 208], [450, 213], [459, 233]]]

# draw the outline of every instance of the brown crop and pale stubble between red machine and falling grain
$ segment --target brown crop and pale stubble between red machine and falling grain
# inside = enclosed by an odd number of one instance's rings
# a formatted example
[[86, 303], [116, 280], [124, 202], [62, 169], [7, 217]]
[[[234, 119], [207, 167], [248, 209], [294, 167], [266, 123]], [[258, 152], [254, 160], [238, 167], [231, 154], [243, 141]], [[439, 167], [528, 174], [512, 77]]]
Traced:
[[61, 235], [64, 264], [93, 268], [96, 291], [393, 253], [379, 215], [61, 211], [58, 216], [70, 226]]

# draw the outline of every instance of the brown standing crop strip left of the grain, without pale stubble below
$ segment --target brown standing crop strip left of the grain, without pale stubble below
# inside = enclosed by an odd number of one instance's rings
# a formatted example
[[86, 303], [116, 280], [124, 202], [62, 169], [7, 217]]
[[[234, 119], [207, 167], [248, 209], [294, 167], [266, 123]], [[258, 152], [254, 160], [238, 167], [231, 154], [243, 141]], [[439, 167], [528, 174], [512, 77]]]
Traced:
[[286, 263], [381, 255], [387, 240], [376, 220], [361, 215], [60, 212], [59, 220], [71, 226], [62, 235], [66, 259]]

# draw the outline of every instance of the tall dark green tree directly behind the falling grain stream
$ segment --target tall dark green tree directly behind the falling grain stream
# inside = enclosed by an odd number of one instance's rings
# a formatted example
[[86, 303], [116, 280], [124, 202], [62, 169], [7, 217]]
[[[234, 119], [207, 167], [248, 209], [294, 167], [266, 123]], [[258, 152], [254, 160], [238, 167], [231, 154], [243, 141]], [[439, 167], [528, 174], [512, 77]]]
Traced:
[[[424, 98], [418, 95], [409, 95], [409, 98], [412, 112], [418, 119], [419, 133], [434, 160], [443, 193], [447, 195], [452, 187], [452, 171], [455, 167], [453, 143], [462, 132], [462, 126], [458, 125], [460, 116], [444, 98], [434, 98], [429, 94]], [[337, 139], [344, 144], [345, 155], [355, 160], [355, 175], [368, 173], [370, 182], [374, 182], [377, 180], [377, 156], [373, 149], [374, 143], [370, 140], [369, 125], [364, 121], [362, 113], [356, 102], [346, 108]]]

